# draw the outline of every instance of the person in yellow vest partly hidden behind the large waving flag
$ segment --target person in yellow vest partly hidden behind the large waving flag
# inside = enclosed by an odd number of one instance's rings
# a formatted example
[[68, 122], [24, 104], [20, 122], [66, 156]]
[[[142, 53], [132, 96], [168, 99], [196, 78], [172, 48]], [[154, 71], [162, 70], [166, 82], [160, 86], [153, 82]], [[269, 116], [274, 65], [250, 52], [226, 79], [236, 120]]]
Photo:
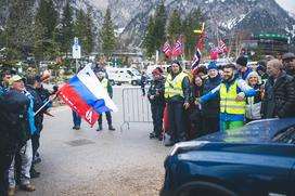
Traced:
[[[105, 71], [103, 69], [98, 69], [97, 76], [102, 84], [102, 87], [104, 87], [105, 91], [108, 93], [110, 97], [113, 97], [113, 88], [108, 82], [108, 79], [105, 78]], [[116, 129], [112, 126], [112, 115], [111, 112], [105, 112], [105, 116], [106, 116], [106, 121], [108, 125], [108, 130], [111, 131], [115, 131]], [[99, 118], [99, 128], [97, 129], [97, 131], [101, 131], [102, 130], [102, 114]]]

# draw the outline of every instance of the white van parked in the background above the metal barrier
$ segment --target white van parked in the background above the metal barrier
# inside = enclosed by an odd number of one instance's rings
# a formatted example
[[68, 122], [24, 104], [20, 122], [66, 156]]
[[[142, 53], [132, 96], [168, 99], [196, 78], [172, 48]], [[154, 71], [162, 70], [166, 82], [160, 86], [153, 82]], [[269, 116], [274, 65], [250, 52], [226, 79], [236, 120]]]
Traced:
[[108, 81], [112, 86], [121, 83], [140, 84], [141, 74], [134, 68], [106, 68]]

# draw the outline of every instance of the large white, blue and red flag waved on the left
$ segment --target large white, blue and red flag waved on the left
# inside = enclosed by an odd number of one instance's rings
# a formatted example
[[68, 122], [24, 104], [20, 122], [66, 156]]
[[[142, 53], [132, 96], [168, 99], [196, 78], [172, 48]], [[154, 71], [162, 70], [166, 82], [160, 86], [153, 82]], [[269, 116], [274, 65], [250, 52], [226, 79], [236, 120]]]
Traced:
[[118, 110], [89, 66], [74, 76], [56, 94], [91, 127], [102, 113]]

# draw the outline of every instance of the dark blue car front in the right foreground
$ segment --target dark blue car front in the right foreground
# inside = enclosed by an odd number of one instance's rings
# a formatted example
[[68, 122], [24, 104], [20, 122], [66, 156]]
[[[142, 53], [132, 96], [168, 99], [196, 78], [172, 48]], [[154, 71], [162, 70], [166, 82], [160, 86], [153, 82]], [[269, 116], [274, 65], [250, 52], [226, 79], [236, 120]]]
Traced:
[[266, 119], [177, 143], [161, 195], [295, 195], [295, 118]]

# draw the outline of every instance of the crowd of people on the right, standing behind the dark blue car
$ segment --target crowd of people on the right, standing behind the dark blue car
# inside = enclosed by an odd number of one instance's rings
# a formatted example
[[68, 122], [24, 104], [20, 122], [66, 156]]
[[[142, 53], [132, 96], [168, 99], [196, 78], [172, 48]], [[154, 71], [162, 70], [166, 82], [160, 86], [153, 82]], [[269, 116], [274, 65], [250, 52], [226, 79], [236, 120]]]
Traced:
[[150, 138], [162, 140], [168, 133], [166, 146], [253, 120], [295, 117], [293, 53], [282, 58], [267, 55], [256, 67], [247, 66], [243, 55], [222, 67], [213, 61], [192, 77], [174, 61], [166, 79], [161, 67], [152, 74], [148, 97], [154, 130]]

